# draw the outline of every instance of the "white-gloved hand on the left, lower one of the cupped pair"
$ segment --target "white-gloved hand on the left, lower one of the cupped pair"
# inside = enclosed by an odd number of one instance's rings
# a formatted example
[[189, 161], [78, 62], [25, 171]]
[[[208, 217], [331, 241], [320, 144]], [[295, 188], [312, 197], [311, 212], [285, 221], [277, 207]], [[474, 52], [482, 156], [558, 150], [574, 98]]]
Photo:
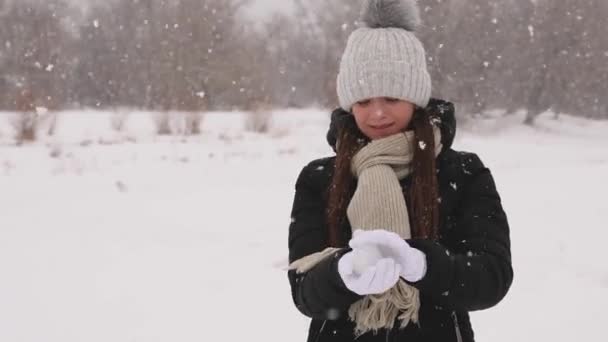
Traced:
[[377, 255], [358, 253], [353, 250], [338, 261], [338, 273], [349, 290], [359, 295], [380, 294], [399, 281], [401, 266], [393, 259], [369, 260]]

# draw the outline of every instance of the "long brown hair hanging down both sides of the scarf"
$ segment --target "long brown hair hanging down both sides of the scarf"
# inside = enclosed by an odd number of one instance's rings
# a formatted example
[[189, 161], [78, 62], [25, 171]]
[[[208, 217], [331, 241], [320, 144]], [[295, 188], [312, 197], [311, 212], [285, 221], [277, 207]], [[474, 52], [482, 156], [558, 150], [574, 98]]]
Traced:
[[[435, 164], [435, 139], [431, 121], [435, 113], [416, 108], [408, 129], [414, 131], [415, 148], [412, 165], [412, 182], [406, 193], [412, 236], [415, 238], [437, 237], [439, 225], [439, 191]], [[353, 156], [369, 139], [357, 127], [352, 115], [342, 120], [336, 139], [336, 160], [332, 182], [328, 192], [327, 224], [329, 244], [343, 247], [341, 227], [346, 220], [346, 209], [356, 189], [356, 180], [350, 169]], [[424, 146], [424, 148], [418, 148]]]

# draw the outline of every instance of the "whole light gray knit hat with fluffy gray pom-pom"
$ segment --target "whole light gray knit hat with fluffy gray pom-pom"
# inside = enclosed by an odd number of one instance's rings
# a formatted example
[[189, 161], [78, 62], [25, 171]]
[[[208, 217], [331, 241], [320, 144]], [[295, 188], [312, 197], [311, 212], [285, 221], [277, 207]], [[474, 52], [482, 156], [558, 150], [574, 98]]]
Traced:
[[340, 107], [350, 111], [361, 100], [392, 97], [426, 107], [431, 77], [422, 43], [415, 0], [363, 0], [363, 27], [353, 31], [338, 73]]

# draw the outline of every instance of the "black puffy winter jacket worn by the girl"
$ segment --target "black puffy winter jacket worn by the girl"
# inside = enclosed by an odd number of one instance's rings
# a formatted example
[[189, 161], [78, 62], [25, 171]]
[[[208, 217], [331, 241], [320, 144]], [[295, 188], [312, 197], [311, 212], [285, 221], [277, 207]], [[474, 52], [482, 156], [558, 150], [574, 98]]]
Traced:
[[[490, 170], [477, 155], [451, 149], [455, 135], [453, 105], [441, 100], [429, 104], [442, 113], [443, 150], [437, 157], [440, 228], [437, 241], [411, 239], [411, 246], [427, 257], [425, 277], [412, 285], [420, 291], [420, 322], [406, 329], [369, 332], [356, 341], [473, 342], [469, 311], [496, 305], [513, 280], [509, 226]], [[335, 143], [334, 112], [328, 133]], [[335, 157], [312, 161], [301, 171], [289, 227], [289, 261], [328, 247], [325, 194]], [[406, 189], [411, 180], [401, 181]], [[348, 221], [348, 220], [345, 220]], [[348, 222], [344, 241], [351, 237]], [[354, 323], [348, 308], [361, 297], [344, 285], [337, 271], [344, 248], [305, 274], [289, 271], [293, 301], [312, 318], [308, 342], [354, 341]]]

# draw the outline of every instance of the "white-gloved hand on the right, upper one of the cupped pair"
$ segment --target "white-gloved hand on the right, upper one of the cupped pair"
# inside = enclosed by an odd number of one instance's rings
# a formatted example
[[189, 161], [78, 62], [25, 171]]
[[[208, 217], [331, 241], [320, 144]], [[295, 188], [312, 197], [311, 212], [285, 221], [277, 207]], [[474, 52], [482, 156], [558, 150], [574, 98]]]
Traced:
[[357, 230], [349, 245], [353, 250], [375, 246], [383, 258], [393, 258], [401, 265], [401, 276], [410, 282], [420, 281], [426, 274], [426, 255], [411, 247], [398, 234], [386, 230]]

